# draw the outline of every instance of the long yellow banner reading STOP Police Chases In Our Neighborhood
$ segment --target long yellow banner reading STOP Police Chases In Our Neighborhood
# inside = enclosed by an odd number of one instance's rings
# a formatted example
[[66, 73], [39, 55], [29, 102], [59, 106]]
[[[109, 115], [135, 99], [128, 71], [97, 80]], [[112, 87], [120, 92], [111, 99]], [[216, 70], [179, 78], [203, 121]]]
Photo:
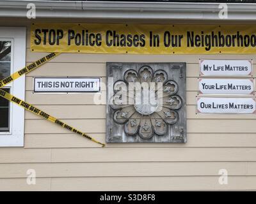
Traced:
[[254, 25], [31, 25], [31, 52], [255, 54]]

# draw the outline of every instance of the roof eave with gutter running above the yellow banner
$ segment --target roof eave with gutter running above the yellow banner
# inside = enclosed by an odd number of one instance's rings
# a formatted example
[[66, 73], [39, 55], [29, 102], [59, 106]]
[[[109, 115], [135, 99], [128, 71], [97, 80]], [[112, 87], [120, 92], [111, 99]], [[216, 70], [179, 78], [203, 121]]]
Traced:
[[[34, 3], [36, 18], [117, 18], [223, 20], [220, 3], [111, 1], [0, 1], [0, 17], [26, 17]], [[256, 4], [228, 3], [225, 20], [256, 20]]]

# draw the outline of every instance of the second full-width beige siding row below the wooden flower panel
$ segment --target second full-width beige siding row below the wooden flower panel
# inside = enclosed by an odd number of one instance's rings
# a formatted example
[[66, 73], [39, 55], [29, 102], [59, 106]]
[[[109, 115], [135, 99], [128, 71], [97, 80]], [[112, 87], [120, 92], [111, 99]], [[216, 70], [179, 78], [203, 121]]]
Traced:
[[[252, 163], [252, 164], [251, 164]], [[26, 178], [26, 171], [36, 171], [36, 178], [45, 177], [177, 177], [216, 176], [220, 169], [228, 175], [255, 175], [255, 162], [152, 162], [152, 163], [30, 163], [0, 164], [0, 179]], [[104, 171], [102, 171], [104, 166]], [[250, 174], [247, 173], [250, 171]]]

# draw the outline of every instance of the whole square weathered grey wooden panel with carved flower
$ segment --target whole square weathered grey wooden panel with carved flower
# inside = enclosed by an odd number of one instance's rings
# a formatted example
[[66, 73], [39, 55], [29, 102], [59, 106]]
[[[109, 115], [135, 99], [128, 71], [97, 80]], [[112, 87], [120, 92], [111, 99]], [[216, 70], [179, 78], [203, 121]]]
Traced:
[[186, 143], [186, 63], [108, 62], [106, 76], [108, 143]]

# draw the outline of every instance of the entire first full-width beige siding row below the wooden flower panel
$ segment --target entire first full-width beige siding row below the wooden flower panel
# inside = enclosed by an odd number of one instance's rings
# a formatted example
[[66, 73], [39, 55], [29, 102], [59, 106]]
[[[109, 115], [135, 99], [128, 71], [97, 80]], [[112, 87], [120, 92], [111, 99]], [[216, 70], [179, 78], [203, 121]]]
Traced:
[[0, 149], [0, 163], [256, 161], [253, 147]]

